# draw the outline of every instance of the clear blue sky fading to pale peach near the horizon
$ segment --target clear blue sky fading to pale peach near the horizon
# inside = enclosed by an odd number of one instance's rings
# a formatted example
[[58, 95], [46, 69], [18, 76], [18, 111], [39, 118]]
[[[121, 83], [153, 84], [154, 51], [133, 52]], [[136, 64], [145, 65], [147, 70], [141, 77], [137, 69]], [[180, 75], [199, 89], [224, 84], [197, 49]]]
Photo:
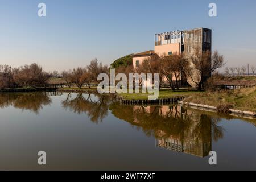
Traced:
[[[46, 17], [38, 4], [46, 4]], [[208, 15], [209, 3], [217, 17]], [[226, 67], [256, 66], [255, 0], [0, 0], [0, 64], [39, 63], [46, 71], [85, 67], [154, 50], [154, 35], [212, 29]]]

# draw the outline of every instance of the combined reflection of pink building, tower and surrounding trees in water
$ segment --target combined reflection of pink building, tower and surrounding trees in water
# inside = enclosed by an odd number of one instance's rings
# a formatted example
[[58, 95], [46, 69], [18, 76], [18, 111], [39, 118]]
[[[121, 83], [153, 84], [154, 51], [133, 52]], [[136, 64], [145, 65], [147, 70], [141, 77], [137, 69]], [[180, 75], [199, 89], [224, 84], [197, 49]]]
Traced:
[[119, 119], [154, 135], [156, 147], [200, 157], [212, 150], [212, 138], [223, 137], [218, 118], [185, 109], [182, 106], [110, 106]]

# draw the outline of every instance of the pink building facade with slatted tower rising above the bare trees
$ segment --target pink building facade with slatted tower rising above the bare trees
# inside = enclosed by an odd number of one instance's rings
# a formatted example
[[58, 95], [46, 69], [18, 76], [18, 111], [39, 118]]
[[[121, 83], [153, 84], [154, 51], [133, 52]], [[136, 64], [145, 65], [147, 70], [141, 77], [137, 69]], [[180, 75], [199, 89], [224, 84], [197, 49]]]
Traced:
[[[208, 28], [195, 28], [193, 30], [170, 31], [155, 34], [155, 51], [146, 51], [133, 55], [134, 68], [138, 67], [144, 59], [157, 54], [158, 56], [184, 53], [188, 58], [193, 56], [196, 49], [212, 51], [212, 30]], [[198, 74], [195, 73], [195, 77]], [[198, 80], [199, 78], [195, 79]], [[191, 80], [187, 80], [195, 86]]]

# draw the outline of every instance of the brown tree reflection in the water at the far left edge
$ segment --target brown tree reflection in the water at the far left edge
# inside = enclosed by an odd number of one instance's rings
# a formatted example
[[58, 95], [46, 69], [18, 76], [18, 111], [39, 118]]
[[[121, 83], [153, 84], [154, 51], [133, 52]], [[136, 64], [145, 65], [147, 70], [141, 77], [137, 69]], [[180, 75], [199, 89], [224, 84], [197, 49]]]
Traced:
[[51, 98], [43, 92], [22, 94], [0, 94], [0, 107], [14, 106], [18, 109], [31, 110], [38, 114], [43, 105], [51, 104]]

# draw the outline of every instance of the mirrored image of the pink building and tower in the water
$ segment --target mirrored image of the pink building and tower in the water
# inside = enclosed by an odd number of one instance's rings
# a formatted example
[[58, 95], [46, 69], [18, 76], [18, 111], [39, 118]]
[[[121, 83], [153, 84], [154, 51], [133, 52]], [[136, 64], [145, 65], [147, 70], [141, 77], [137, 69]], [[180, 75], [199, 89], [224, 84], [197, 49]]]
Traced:
[[[163, 130], [155, 131], [157, 147], [200, 157], [208, 156], [209, 151], [212, 150], [210, 118], [201, 118], [200, 114], [194, 114], [192, 111], [183, 109], [182, 106], [134, 106], [133, 110], [141, 111], [141, 114], [154, 113], [162, 118], [171, 117], [176, 119], [177, 122], [171, 125], [175, 130], [172, 131], [171, 135], [166, 135]], [[134, 122], [141, 122], [136, 114], [134, 115]], [[189, 123], [189, 125], [185, 126], [184, 123]]]

